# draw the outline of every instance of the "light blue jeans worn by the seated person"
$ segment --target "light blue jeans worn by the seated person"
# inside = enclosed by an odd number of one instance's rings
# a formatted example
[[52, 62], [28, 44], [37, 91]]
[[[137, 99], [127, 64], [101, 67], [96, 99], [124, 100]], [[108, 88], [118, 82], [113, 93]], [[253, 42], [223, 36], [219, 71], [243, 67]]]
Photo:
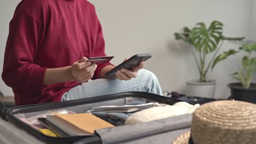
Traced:
[[96, 79], [82, 83], [65, 93], [62, 101], [96, 97], [114, 93], [136, 91], [162, 95], [162, 90], [156, 76], [145, 69], [138, 71], [137, 77], [129, 81], [118, 79]]

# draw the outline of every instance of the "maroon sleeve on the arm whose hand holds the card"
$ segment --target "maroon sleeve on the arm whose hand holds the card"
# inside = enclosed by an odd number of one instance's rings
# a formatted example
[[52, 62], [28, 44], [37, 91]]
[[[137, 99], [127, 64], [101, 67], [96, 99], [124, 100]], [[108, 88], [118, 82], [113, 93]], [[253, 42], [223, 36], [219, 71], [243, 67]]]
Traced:
[[4, 54], [2, 79], [6, 85], [24, 92], [42, 92], [46, 68], [33, 63], [42, 35], [36, 17], [15, 11]]

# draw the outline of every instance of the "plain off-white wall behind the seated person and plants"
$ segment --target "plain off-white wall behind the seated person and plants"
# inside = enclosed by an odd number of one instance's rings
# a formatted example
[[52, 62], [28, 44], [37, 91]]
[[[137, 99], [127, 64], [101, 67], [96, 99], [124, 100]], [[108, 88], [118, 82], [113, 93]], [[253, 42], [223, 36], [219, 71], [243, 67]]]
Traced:
[[[18, 0], [3, 1], [0, 5], [0, 67], [2, 67], [8, 23]], [[174, 40], [173, 33], [196, 22], [222, 21], [227, 36], [250, 35], [249, 24], [252, 0], [94, 0], [106, 39], [106, 52], [116, 56], [114, 64], [136, 53], [152, 53], [146, 69], [159, 78], [164, 90], [184, 92], [185, 81], [197, 77], [196, 65], [187, 45]], [[225, 43], [223, 49], [236, 47]], [[1, 68], [2, 70], [2, 68]], [[0, 70], [0, 73], [2, 71]], [[209, 77], [217, 79], [216, 98], [229, 97], [226, 83], [234, 81], [228, 76], [233, 72], [228, 62], [220, 63]], [[0, 91], [12, 94], [0, 80]]]

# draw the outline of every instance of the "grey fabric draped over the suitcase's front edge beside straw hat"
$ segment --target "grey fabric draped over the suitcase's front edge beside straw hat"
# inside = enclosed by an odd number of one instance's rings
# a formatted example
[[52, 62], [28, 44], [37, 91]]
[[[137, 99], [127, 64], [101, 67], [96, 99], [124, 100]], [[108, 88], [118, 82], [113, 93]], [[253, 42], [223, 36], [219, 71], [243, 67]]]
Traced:
[[[153, 136], [155, 139], [162, 139], [161, 143], [171, 143], [179, 134], [189, 130], [191, 121], [192, 115], [187, 114], [147, 123], [96, 130], [96, 133], [101, 136], [103, 144], [133, 143], [136, 140], [138, 143], [148, 143]], [[172, 135], [167, 138], [164, 134]]]

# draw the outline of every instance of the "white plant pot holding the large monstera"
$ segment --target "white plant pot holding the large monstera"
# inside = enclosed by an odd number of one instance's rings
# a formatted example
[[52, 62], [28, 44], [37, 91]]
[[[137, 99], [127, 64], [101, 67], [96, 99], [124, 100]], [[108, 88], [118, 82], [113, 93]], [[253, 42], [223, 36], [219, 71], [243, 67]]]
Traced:
[[202, 98], [214, 98], [216, 80], [207, 80], [208, 82], [187, 81], [186, 95]]

